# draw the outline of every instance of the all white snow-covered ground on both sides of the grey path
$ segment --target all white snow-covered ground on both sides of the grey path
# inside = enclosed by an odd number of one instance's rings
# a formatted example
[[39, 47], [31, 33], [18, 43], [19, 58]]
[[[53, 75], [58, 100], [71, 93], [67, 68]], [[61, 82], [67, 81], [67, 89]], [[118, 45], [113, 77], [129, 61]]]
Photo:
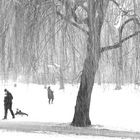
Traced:
[[[54, 103], [48, 104], [47, 89], [43, 85], [35, 84], [1, 84], [0, 86], [0, 118], [3, 118], [3, 98], [4, 88], [7, 88], [13, 94], [13, 110], [21, 109], [29, 114], [26, 116], [17, 116], [15, 120], [11, 119], [8, 113], [7, 121], [35, 121], [52, 123], [70, 123], [74, 115], [74, 106], [78, 92], [78, 85], [65, 85], [65, 90], [59, 90], [59, 85], [52, 85], [54, 91]], [[126, 130], [140, 132], [140, 87], [134, 85], [125, 85], [122, 90], [114, 90], [115, 85], [95, 85], [93, 88], [90, 119], [93, 125], [112, 130]], [[3, 120], [1, 120], [3, 121]], [[32, 134], [21, 132], [7, 132], [0, 130], [0, 137], [8, 138], [30, 138], [34, 139], [97, 139], [90, 136], [66, 136], [60, 134]], [[62, 137], [62, 138], [61, 138]], [[98, 137], [98, 139], [111, 139]], [[113, 138], [114, 140], [117, 138]]]

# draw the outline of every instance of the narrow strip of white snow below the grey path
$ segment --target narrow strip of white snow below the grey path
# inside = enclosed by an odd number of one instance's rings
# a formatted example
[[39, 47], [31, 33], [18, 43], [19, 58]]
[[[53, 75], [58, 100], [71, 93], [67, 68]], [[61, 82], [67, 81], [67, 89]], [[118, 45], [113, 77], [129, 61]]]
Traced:
[[[120, 140], [119, 138], [110, 137], [93, 137], [93, 136], [75, 136], [75, 135], [60, 135], [60, 134], [36, 134], [23, 132], [7, 132], [0, 131], [0, 138], [3, 140]], [[131, 139], [125, 139], [131, 140]]]

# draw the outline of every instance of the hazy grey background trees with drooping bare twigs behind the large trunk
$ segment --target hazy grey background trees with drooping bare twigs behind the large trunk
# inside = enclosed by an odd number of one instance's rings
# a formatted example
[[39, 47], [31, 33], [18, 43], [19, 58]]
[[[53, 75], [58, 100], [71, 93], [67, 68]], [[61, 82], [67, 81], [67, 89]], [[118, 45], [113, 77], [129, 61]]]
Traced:
[[[60, 82], [61, 88], [64, 83], [79, 82], [87, 43], [83, 29], [88, 27], [86, 1], [84, 7], [79, 0], [76, 4], [73, 0], [0, 0], [1, 80]], [[121, 25], [129, 18], [139, 19], [139, 9], [138, 0], [110, 2], [101, 45], [117, 42]], [[60, 13], [65, 15], [64, 19]], [[137, 21], [134, 22], [126, 25], [123, 36], [139, 28]], [[139, 38], [136, 36], [123, 43], [124, 47], [105, 52], [95, 81], [99, 84], [138, 82]]]

